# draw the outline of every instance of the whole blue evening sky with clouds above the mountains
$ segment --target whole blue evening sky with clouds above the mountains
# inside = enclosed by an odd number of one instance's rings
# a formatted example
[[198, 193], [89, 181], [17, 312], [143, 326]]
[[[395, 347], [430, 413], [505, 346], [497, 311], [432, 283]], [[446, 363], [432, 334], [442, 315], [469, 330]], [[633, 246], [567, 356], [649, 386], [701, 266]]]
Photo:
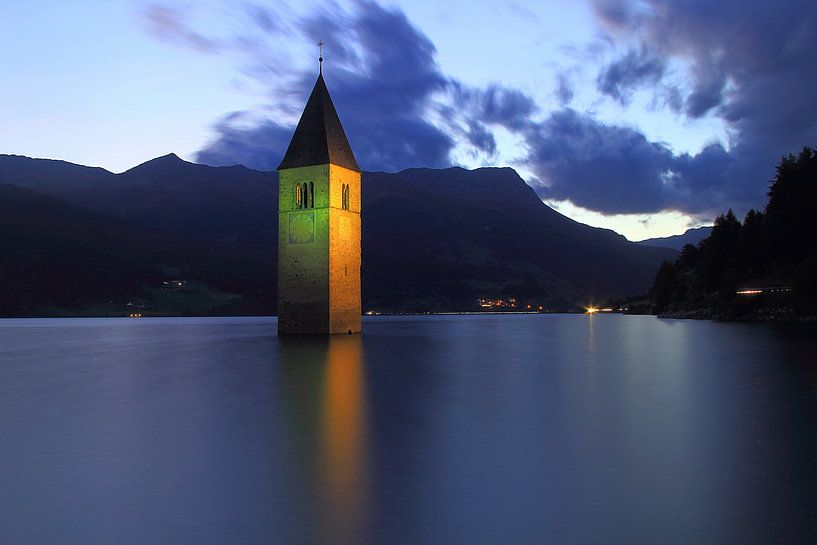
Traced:
[[817, 145], [804, 0], [4, 0], [0, 153], [273, 170], [324, 75], [364, 170], [510, 166], [631, 240]]

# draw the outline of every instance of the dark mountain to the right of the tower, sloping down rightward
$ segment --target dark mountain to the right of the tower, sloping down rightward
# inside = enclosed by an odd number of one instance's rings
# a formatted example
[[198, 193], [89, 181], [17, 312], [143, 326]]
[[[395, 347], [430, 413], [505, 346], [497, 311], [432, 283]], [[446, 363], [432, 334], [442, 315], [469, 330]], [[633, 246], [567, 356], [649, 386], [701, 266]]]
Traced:
[[510, 168], [367, 173], [363, 188], [363, 285], [374, 306], [482, 294], [568, 307], [643, 292], [672, 253], [559, 214]]

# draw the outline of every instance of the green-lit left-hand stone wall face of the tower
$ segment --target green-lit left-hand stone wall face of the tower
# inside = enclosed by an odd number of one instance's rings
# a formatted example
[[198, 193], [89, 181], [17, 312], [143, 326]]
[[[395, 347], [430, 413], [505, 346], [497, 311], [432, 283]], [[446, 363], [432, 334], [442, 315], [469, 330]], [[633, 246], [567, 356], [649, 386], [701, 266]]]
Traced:
[[[314, 208], [296, 204], [297, 184], [314, 184]], [[329, 331], [328, 165], [280, 171], [278, 185], [278, 332]], [[310, 203], [311, 204], [311, 203]], [[312, 236], [305, 225], [312, 222]]]

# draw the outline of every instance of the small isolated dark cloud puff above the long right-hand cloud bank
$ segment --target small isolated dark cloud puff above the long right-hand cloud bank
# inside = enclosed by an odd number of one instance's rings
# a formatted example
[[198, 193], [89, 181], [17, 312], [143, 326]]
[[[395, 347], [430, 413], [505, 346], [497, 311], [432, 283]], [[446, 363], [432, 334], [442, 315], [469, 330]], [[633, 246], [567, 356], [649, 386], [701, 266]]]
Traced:
[[597, 85], [602, 93], [627, 104], [633, 90], [656, 84], [665, 71], [664, 61], [646, 49], [631, 50], [599, 73]]

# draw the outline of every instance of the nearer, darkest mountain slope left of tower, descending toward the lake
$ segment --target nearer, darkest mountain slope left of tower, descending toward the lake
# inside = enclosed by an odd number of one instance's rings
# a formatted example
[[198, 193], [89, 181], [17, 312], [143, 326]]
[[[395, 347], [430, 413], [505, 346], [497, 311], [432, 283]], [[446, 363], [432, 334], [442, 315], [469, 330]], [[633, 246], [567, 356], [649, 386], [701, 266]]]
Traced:
[[252, 300], [235, 311], [259, 311], [274, 301], [267, 278], [274, 262], [257, 254], [0, 184], [0, 316], [102, 304], [124, 310], [132, 298], [172, 278], [250, 294]]

